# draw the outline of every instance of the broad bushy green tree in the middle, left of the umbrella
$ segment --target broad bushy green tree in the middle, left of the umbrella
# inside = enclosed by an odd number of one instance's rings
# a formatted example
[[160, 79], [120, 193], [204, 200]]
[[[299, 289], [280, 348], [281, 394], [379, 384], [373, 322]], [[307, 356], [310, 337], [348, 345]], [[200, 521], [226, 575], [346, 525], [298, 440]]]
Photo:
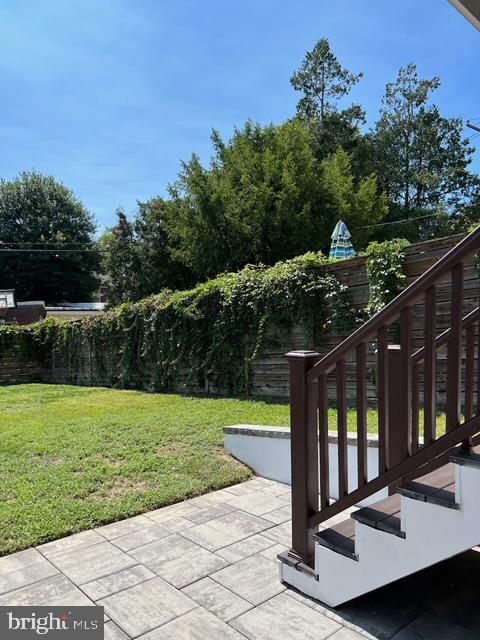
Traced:
[[170, 187], [173, 250], [197, 280], [246, 263], [274, 264], [325, 247], [321, 172], [300, 121], [247, 122], [230, 142], [212, 135], [209, 169], [193, 155]]

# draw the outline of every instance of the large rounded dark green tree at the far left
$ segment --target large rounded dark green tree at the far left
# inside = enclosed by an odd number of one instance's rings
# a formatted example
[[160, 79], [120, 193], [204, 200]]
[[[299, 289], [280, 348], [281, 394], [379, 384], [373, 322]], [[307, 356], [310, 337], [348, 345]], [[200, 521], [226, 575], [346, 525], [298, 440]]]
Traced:
[[0, 286], [20, 300], [90, 300], [99, 286], [94, 231], [85, 206], [52, 176], [1, 180]]

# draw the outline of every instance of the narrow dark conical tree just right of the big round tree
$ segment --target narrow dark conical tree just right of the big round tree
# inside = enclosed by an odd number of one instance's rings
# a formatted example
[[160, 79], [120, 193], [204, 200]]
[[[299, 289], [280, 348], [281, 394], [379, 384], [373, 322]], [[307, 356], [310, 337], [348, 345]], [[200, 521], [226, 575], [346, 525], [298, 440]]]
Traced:
[[132, 223], [117, 209], [117, 224], [104, 235], [104, 268], [107, 274], [108, 304], [115, 306], [139, 297], [139, 267]]

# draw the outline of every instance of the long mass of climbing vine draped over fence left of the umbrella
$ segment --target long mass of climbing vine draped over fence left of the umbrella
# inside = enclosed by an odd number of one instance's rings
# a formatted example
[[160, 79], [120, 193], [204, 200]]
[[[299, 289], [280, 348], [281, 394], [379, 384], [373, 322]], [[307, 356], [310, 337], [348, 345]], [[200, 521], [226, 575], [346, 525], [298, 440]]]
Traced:
[[250, 363], [271, 339], [269, 325], [303, 327], [309, 346], [316, 331], [352, 326], [346, 287], [326, 264], [321, 253], [307, 253], [270, 268], [248, 265], [95, 318], [0, 327], [0, 345], [5, 351], [21, 344], [40, 361], [60, 353], [72, 382], [86, 344], [93, 378], [107, 375], [114, 386], [203, 389], [207, 380], [211, 389], [245, 393], [252, 384]]

